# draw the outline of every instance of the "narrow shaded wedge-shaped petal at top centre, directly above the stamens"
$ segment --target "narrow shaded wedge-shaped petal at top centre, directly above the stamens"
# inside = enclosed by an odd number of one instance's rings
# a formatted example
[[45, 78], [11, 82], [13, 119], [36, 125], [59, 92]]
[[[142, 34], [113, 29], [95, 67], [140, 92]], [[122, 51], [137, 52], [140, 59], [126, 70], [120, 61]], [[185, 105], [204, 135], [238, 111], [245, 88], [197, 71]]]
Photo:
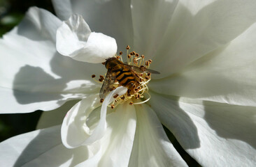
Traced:
[[145, 54], [147, 59], [156, 54], [155, 51], [168, 30], [177, 3], [178, 0], [158, 0], [150, 3], [147, 0], [131, 0], [134, 26], [134, 48], [132, 49]]

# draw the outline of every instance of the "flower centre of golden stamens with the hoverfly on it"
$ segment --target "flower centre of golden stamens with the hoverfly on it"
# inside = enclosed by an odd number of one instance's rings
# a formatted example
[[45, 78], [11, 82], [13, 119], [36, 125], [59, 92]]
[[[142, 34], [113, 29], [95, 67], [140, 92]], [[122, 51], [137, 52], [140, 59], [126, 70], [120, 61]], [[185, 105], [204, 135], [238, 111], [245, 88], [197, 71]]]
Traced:
[[[151, 60], [145, 61], [145, 56], [142, 54], [136, 53], [135, 51], [129, 51], [130, 47], [127, 46], [127, 62], [122, 61], [122, 51], [119, 55], [115, 55], [115, 58], [109, 58], [106, 62], [102, 63], [106, 65], [108, 73], [106, 77], [103, 75], [99, 76], [99, 81], [95, 79], [95, 75], [92, 75], [94, 81], [104, 82], [102, 89], [106, 88], [108, 90], [104, 92], [109, 92], [115, 90], [119, 86], [127, 87], [127, 93], [124, 95], [114, 95], [115, 100], [109, 106], [113, 109], [118, 104], [122, 104], [127, 100], [141, 100], [141, 102], [130, 102], [130, 105], [133, 104], [143, 104], [150, 100], [150, 94], [148, 93], [148, 82], [151, 79], [151, 73], [159, 74], [154, 70], [149, 70]], [[109, 76], [115, 76], [113, 83]], [[107, 85], [107, 86], [106, 86]], [[111, 88], [109, 88], [111, 86]], [[101, 99], [101, 102], [104, 102], [104, 99]]]

